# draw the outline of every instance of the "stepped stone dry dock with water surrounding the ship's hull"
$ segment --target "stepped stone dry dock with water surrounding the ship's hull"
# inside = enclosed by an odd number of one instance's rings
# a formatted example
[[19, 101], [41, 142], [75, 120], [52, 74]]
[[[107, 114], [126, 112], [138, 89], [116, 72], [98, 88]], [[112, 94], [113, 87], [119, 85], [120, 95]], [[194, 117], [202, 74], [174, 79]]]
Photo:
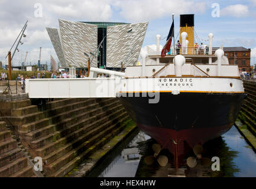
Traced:
[[[244, 100], [235, 126], [207, 142], [210, 167], [179, 171], [145, 165], [154, 140], [132, 122], [118, 98], [29, 99], [25, 93], [0, 95], [0, 177], [256, 177], [256, 83], [244, 81]], [[192, 154], [188, 154], [192, 155]], [[33, 169], [41, 157], [43, 171]]]

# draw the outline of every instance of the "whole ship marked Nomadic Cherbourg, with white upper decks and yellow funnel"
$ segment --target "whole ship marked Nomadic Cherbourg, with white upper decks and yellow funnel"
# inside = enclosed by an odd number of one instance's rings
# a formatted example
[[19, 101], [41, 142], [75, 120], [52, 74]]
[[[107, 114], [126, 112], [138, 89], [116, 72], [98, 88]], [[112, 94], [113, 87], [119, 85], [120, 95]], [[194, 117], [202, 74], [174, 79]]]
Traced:
[[117, 92], [141, 131], [173, 154], [177, 169], [189, 151], [199, 149], [200, 159], [200, 146], [231, 129], [245, 96], [238, 66], [222, 48], [213, 53], [213, 34], [200, 49], [194, 37], [194, 15], [180, 15], [180, 54], [161, 57], [157, 36], [157, 49], [148, 47], [141, 66], [126, 68]]

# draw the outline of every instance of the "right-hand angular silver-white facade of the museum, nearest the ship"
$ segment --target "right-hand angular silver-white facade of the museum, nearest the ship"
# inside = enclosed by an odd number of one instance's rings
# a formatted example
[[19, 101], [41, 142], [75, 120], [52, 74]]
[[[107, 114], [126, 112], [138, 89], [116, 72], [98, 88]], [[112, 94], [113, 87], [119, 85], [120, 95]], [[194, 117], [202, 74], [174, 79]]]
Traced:
[[107, 28], [106, 67], [137, 64], [148, 22], [115, 25]]

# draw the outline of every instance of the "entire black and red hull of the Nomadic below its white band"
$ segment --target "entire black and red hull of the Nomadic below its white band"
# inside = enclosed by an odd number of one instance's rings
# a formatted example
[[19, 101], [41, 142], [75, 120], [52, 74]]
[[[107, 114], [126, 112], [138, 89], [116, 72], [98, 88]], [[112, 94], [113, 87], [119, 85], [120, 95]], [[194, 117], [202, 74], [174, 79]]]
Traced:
[[232, 127], [244, 93], [160, 93], [155, 104], [148, 99], [120, 97], [138, 127], [168, 149], [179, 167], [195, 145], [203, 145]]

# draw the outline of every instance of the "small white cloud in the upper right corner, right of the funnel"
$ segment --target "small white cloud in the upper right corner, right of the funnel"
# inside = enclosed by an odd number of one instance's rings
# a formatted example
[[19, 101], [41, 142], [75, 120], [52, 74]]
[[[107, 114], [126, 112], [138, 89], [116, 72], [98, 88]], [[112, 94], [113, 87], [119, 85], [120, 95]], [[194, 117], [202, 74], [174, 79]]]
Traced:
[[221, 15], [229, 15], [231, 17], [247, 17], [249, 15], [249, 8], [247, 5], [229, 5], [221, 10]]

